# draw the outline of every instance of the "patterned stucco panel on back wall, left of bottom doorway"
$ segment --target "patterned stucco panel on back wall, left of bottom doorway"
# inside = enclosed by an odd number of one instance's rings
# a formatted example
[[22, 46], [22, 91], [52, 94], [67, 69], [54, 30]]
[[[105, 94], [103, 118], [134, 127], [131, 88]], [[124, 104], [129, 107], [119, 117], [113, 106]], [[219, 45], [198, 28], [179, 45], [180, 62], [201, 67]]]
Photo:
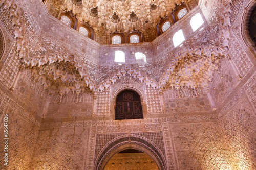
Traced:
[[85, 129], [44, 130], [39, 136], [31, 169], [82, 169]]

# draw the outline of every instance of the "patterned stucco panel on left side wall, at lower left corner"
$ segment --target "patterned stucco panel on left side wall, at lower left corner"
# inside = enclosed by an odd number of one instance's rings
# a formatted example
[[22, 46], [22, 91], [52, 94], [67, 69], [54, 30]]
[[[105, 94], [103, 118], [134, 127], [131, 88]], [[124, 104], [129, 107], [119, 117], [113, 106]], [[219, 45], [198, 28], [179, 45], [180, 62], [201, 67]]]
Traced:
[[[29, 163], [33, 157], [34, 148], [36, 146], [37, 134], [39, 128], [32, 125], [28, 120], [24, 120], [16, 113], [8, 113], [8, 169], [30, 169]], [[6, 113], [5, 113], [6, 114]], [[1, 120], [1, 124], [3, 123]], [[0, 128], [4, 132], [4, 126]], [[6, 169], [3, 163], [4, 143], [3, 135], [0, 143], [0, 169]]]

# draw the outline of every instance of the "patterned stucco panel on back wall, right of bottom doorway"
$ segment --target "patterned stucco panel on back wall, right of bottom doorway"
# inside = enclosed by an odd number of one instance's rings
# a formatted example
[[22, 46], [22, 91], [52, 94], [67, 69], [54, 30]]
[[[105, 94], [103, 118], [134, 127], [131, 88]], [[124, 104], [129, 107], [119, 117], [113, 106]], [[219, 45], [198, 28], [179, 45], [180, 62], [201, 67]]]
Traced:
[[172, 125], [180, 169], [232, 169], [229, 142], [218, 123]]

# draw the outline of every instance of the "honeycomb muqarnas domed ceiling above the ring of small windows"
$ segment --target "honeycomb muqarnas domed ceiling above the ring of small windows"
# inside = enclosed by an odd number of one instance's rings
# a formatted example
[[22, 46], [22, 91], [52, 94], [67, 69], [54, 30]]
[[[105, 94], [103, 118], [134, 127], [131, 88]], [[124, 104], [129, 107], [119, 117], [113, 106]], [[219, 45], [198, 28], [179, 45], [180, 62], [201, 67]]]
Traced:
[[[196, 1], [196, 0], [195, 0]], [[78, 22], [88, 22], [93, 27], [98, 42], [105, 42], [111, 32], [130, 32], [133, 29], [143, 33], [145, 41], [156, 38], [155, 27], [159, 20], [170, 15], [176, 4], [184, 0], [67, 0], [46, 2], [54, 17], [62, 10], [72, 11]]]

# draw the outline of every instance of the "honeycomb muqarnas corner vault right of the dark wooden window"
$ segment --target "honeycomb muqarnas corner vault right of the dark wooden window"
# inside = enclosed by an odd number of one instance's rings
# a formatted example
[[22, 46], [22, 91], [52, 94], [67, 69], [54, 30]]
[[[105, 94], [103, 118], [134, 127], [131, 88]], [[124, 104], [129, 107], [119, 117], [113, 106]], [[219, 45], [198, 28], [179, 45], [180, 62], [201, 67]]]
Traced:
[[180, 48], [161, 77], [160, 88], [207, 87], [225, 54], [223, 49], [215, 46]]

